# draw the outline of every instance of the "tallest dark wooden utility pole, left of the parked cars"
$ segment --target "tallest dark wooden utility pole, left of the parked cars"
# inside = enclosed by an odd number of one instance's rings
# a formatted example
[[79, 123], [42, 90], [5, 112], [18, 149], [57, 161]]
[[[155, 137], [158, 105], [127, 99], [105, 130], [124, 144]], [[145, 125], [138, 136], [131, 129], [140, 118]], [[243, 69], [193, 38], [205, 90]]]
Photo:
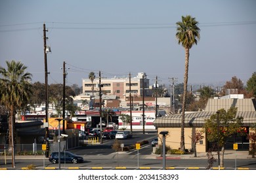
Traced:
[[[47, 71], [47, 44], [46, 40], [46, 32], [48, 30], [45, 29], [45, 24], [43, 24], [43, 51], [45, 56], [45, 123], [48, 124], [48, 71]], [[45, 157], [49, 157], [49, 124], [48, 127], [45, 127], [45, 140], [46, 140], [46, 150]]]

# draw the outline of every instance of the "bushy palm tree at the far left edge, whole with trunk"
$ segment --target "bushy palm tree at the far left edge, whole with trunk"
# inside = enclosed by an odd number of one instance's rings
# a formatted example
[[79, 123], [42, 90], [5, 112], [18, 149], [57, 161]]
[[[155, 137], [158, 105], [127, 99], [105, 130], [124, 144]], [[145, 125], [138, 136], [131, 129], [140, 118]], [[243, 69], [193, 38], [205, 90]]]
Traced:
[[32, 94], [32, 75], [20, 61], [6, 61], [7, 69], [0, 67], [1, 104], [9, 110], [9, 146], [12, 146], [12, 167], [14, 167], [15, 114], [18, 108], [28, 104]]

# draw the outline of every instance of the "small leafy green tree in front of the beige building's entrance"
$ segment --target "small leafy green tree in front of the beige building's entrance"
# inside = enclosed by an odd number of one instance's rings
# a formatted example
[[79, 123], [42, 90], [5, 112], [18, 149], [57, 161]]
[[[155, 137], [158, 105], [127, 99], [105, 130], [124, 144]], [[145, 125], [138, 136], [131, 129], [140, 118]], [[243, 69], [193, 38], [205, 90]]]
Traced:
[[[219, 115], [218, 113], [211, 115], [209, 119], [205, 120], [205, 124], [203, 125], [207, 140], [209, 142], [217, 142], [219, 147], [221, 147], [221, 167], [224, 165], [226, 139], [231, 135], [237, 134], [239, 127], [242, 126], [243, 118], [236, 116], [237, 110], [237, 107], [230, 107], [227, 111], [222, 108], [218, 110]], [[243, 133], [240, 133], [240, 135], [243, 135]]]

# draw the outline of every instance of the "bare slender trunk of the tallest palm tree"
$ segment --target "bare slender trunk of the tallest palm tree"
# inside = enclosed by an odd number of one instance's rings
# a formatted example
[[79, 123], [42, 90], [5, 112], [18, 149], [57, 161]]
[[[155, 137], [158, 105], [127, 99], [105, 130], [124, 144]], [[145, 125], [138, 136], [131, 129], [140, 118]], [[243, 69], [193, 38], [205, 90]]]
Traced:
[[189, 61], [189, 48], [185, 48], [185, 72], [184, 72], [184, 90], [182, 99], [182, 118], [181, 118], [181, 150], [185, 152], [185, 110], [186, 110], [186, 90], [188, 88], [188, 61]]

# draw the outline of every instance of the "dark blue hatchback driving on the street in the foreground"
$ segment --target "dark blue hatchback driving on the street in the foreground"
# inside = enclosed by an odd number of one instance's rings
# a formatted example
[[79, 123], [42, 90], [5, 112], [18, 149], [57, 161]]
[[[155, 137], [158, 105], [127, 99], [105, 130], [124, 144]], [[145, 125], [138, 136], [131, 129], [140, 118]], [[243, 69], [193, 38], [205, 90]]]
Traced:
[[[52, 152], [49, 161], [53, 164], [58, 163], [58, 152]], [[77, 156], [71, 152], [60, 152], [60, 163], [83, 163], [83, 157]]]

